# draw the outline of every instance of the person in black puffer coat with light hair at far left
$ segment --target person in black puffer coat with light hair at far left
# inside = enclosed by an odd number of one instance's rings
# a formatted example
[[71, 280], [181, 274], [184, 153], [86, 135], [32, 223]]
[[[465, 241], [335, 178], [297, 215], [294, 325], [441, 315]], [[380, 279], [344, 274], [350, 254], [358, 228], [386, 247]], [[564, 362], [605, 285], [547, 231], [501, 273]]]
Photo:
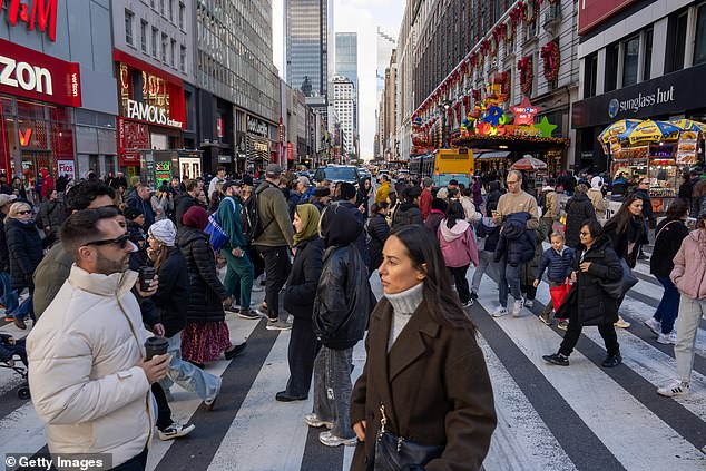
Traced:
[[29, 204], [13, 203], [10, 206], [10, 212], [4, 218], [4, 233], [10, 253], [12, 290], [20, 294], [22, 290], [29, 288], [29, 297], [14, 312], [14, 325], [24, 330], [24, 317], [29, 314], [32, 321], [35, 320], [32, 275], [43, 257], [41, 236], [32, 220], [32, 208]]

